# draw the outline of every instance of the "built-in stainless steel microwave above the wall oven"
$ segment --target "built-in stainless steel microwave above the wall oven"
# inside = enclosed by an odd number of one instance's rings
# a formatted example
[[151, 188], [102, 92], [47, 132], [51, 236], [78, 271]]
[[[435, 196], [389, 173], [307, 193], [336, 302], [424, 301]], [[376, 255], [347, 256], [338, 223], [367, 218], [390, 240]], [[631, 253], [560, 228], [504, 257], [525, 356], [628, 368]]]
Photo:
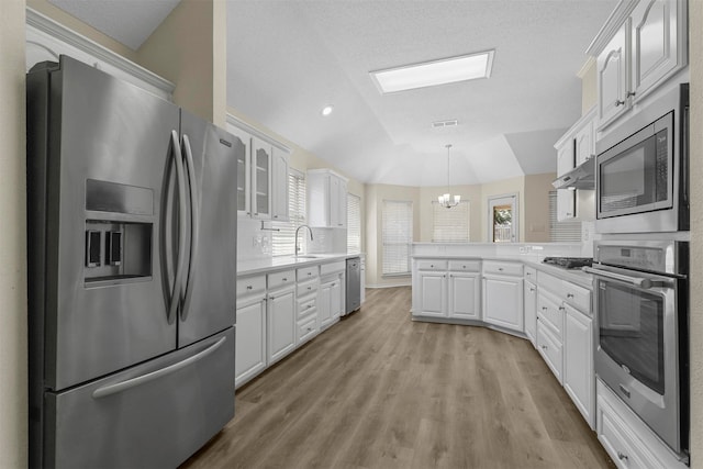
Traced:
[[598, 233], [689, 230], [688, 113], [682, 83], [596, 143]]

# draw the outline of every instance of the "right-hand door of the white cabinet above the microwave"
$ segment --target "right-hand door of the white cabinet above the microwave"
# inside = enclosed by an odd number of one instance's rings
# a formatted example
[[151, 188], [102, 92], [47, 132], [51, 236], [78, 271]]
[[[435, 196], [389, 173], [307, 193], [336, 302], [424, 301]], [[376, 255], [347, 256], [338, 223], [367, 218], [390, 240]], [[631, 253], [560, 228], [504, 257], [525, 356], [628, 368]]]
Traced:
[[[678, 21], [678, 0], [643, 0], [632, 18], [632, 86], [634, 99], [641, 99], [649, 89], [685, 65], [685, 54], [679, 41], [685, 21]], [[680, 31], [683, 29], [683, 31]]]

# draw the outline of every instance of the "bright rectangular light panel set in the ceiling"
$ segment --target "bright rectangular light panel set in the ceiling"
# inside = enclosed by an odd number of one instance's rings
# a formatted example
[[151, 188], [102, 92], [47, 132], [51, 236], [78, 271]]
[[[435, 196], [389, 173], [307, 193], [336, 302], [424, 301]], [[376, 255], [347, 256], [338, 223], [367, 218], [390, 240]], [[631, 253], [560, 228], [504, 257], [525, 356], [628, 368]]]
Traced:
[[371, 71], [382, 93], [434, 87], [491, 76], [495, 51]]

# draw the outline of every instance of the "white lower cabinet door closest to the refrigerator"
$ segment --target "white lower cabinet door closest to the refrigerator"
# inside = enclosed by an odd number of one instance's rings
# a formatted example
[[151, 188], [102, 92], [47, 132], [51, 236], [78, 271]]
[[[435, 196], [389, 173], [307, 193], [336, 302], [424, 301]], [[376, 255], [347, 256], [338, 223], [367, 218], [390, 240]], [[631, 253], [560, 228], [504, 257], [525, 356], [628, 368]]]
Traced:
[[237, 309], [235, 386], [266, 368], [266, 302], [264, 299]]

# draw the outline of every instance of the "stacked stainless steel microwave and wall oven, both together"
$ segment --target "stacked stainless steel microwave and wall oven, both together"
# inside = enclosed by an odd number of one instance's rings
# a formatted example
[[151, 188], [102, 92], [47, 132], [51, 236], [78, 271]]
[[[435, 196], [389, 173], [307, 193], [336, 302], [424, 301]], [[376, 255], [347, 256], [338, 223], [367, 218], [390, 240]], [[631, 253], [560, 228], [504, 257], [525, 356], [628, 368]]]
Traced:
[[596, 144], [595, 372], [689, 454], [688, 85]]

